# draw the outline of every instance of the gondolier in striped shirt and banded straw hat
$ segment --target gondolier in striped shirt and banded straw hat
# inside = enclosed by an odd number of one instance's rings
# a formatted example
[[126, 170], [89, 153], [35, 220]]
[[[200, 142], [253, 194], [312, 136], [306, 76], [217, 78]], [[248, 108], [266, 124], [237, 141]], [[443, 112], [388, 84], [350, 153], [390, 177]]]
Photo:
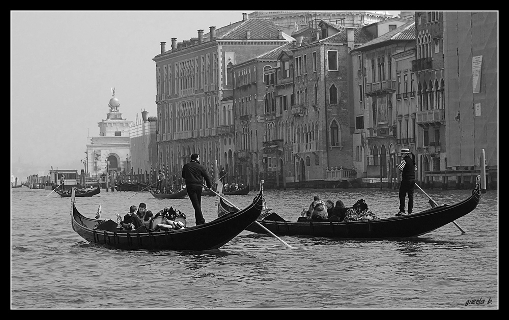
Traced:
[[412, 213], [413, 209], [413, 189], [415, 187], [415, 171], [417, 171], [417, 165], [414, 162], [413, 157], [410, 153], [410, 149], [401, 149], [401, 163], [397, 166], [401, 171], [401, 184], [400, 184], [400, 212], [397, 216], [405, 216], [405, 197], [408, 193], [408, 214]]

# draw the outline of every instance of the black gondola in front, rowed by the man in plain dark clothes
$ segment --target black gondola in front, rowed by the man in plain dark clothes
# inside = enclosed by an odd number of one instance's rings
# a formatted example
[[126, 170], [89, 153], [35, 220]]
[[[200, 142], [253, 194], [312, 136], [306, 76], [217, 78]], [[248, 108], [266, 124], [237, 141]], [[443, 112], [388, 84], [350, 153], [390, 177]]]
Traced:
[[126, 231], [113, 220], [84, 217], [76, 209], [74, 194], [71, 198], [71, 225], [73, 230], [90, 243], [123, 250], [212, 250], [228, 243], [262, 212], [263, 181], [253, 202], [232, 215], [183, 229], [158, 231]]

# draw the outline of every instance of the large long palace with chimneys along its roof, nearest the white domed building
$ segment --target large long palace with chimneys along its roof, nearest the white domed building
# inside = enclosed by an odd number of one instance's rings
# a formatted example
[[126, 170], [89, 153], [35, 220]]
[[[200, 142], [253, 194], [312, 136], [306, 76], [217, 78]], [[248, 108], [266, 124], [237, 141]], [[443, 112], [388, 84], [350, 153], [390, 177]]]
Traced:
[[220, 167], [231, 166], [229, 151], [227, 156], [220, 152], [220, 143], [224, 143], [222, 131], [219, 135], [217, 132], [221, 101], [233, 90], [230, 76], [234, 74], [228, 72], [228, 66], [250, 60], [292, 39], [270, 19], [248, 19], [243, 14], [241, 21], [217, 30], [211, 26], [207, 34], [199, 30], [197, 38], [180, 43], [172, 38], [171, 50], [166, 51], [165, 42], [161, 42], [161, 53], [153, 59], [158, 166], [168, 166], [172, 174], [180, 174], [193, 153], [200, 153], [201, 163], [211, 173], [215, 161]]

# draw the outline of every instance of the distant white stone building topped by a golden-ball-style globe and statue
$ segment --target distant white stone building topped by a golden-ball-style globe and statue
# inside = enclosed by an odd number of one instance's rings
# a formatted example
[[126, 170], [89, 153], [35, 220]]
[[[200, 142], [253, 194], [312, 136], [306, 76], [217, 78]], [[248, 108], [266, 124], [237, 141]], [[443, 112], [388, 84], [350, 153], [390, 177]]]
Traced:
[[91, 177], [101, 176], [107, 169], [110, 172], [122, 170], [123, 161], [130, 153], [129, 127], [132, 121], [122, 118], [115, 90], [108, 107], [106, 120], [98, 122], [99, 136], [87, 138], [87, 173]]

